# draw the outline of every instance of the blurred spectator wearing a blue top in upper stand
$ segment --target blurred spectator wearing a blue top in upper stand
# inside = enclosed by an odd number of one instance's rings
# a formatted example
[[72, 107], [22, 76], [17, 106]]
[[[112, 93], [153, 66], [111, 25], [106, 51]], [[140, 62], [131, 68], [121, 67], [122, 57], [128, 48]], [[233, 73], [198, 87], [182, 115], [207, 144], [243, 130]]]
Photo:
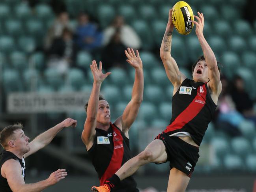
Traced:
[[90, 22], [86, 13], [81, 13], [78, 17], [76, 43], [79, 48], [87, 51], [93, 51], [102, 45], [102, 32], [99, 32], [96, 24]]

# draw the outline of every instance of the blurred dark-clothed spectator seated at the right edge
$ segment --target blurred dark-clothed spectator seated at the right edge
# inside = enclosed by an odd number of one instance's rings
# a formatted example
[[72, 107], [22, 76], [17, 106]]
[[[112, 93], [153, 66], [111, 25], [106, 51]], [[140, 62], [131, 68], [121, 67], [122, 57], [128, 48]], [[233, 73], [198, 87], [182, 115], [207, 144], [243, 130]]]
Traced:
[[241, 76], [235, 76], [231, 95], [237, 111], [243, 114], [246, 119], [253, 121], [256, 125], [256, 114], [253, 109], [253, 101], [245, 91], [245, 82]]

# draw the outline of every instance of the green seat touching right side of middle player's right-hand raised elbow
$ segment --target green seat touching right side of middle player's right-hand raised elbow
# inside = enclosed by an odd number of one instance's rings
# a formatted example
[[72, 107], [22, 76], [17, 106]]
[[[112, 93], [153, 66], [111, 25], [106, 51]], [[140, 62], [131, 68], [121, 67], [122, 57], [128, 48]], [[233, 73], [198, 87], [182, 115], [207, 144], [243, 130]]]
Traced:
[[154, 85], [147, 85], [144, 88], [144, 100], [159, 104], [160, 102], [165, 100], [163, 89], [161, 89], [159, 86]]

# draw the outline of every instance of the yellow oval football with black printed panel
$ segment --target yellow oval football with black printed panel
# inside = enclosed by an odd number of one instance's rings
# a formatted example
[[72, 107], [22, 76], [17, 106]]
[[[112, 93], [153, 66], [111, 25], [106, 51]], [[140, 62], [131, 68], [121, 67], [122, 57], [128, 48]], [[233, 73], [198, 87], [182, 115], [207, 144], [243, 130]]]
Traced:
[[176, 30], [182, 35], [189, 34], [194, 26], [191, 20], [194, 20], [194, 14], [189, 4], [178, 1], [172, 11], [172, 22]]

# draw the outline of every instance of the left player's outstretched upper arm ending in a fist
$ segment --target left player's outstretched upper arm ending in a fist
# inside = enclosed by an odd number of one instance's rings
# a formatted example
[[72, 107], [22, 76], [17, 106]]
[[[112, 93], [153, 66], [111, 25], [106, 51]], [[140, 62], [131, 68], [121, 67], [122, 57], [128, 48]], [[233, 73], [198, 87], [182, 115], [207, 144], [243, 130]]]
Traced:
[[30, 151], [24, 155], [24, 158], [28, 157], [29, 155], [36, 153], [39, 149], [42, 149], [46, 145], [48, 145], [52, 139], [56, 136], [60, 130], [62, 130], [65, 127], [76, 127], [77, 126], [77, 120], [67, 118], [61, 123], [55, 125], [54, 127], [48, 129], [47, 131], [41, 133], [39, 136], [37, 136], [32, 142], [29, 143], [30, 145]]

